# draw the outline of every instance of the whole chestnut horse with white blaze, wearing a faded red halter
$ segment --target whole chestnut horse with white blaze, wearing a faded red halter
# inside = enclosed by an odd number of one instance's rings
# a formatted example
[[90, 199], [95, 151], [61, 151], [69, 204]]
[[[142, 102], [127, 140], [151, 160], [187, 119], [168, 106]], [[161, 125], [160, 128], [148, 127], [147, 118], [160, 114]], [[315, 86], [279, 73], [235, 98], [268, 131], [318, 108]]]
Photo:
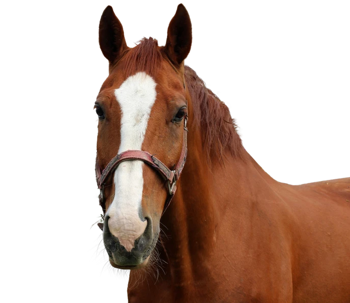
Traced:
[[184, 63], [192, 42], [182, 3], [160, 46], [129, 47], [112, 6], [100, 17], [109, 74], [94, 102], [95, 173], [129, 302], [349, 302], [350, 178], [268, 175]]

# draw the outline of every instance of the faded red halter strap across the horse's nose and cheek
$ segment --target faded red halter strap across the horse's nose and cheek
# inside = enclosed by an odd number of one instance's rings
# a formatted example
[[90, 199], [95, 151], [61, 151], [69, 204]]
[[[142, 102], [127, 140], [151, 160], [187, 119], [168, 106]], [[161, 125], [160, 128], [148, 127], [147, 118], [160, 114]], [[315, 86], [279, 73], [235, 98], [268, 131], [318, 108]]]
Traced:
[[[186, 102], [187, 103], [187, 102]], [[168, 185], [168, 197], [165, 202], [163, 213], [168, 208], [171, 199], [174, 197], [176, 191], [176, 181], [179, 179], [183, 166], [186, 162], [187, 156], [187, 132], [189, 131], [186, 127], [187, 125], [188, 114], [184, 116], [184, 132], [183, 132], [183, 142], [182, 150], [179, 161], [177, 162], [175, 170], [170, 170], [166, 165], [157, 159], [155, 156], [151, 155], [149, 152], [143, 150], [127, 150], [118, 155], [116, 155], [105, 167], [103, 171], [98, 163], [98, 158], [96, 156], [95, 164], [95, 175], [97, 178], [97, 187], [100, 190], [98, 195], [98, 204], [102, 208], [103, 213], [105, 213], [105, 198], [104, 198], [104, 185], [110, 174], [112, 174], [119, 164], [127, 160], [141, 160], [149, 164], [149, 166], [155, 169], [165, 180], [167, 180]], [[162, 215], [163, 215], [162, 213]]]

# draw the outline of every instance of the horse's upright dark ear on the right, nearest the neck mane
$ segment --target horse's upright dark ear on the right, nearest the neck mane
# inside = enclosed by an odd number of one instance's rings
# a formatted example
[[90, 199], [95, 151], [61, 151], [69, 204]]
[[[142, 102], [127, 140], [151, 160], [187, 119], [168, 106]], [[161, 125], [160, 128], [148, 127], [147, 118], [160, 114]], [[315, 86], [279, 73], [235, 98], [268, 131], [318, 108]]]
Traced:
[[189, 11], [183, 3], [180, 3], [169, 22], [167, 40], [164, 45], [165, 52], [173, 63], [180, 65], [189, 57], [193, 41], [192, 31]]

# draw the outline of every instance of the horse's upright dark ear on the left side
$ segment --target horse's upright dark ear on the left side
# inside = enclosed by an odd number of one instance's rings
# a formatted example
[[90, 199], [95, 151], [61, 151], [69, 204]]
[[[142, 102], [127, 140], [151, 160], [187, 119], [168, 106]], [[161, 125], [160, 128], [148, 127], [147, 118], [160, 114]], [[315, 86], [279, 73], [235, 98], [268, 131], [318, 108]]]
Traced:
[[128, 48], [123, 24], [111, 5], [103, 10], [98, 24], [98, 45], [104, 58], [110, 63], [116, 61], [120, 54]]

